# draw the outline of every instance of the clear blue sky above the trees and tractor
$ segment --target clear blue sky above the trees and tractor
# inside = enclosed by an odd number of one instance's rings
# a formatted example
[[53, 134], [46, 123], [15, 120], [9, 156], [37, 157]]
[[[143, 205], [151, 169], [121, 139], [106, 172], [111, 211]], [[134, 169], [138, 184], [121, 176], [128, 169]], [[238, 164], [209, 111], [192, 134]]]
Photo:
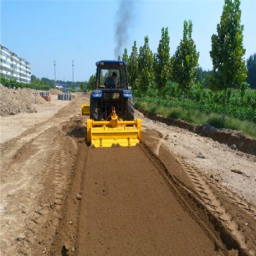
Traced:
[[[125, 1], [125, 2], [124, 2]], [[127, 10], [121, 12], [121, 4]], [[116, 28], [126, 25], [121, 52], [138, 49], [148, 36], [157, 52], [162, 27], [170, 36], [170, 55], [183, 34], [184, 20], [192, 20], [192, 38], [200, 52], [199, 64], [212, 69], [211, 35], [217, 33], [224, 0], [1, 0], [0, 42], [31, 64], [31, 75], [56, 80], [88, 80], [95, 62], [116, 59]], [[245, 59], [256, 53], [256, 1], [241, 0]], [[124, 23], [126, 20], [127, 23]]]

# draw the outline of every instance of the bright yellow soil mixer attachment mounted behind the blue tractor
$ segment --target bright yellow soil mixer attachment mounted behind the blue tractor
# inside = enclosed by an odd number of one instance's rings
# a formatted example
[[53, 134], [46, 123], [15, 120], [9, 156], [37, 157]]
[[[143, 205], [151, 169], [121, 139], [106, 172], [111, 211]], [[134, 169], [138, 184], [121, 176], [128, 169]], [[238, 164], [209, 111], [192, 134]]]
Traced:
[[[84, 105], [83, 105], [84, 106]], [[88, 115], [82, 106], [82, 114]], [[123, 121], [118, 118], [115, 108], [108, 118], [110, 121], [87, 119], [87, 142], [96, 148], [111, 146], [137, 146], [142, 140], [141, 120]]]

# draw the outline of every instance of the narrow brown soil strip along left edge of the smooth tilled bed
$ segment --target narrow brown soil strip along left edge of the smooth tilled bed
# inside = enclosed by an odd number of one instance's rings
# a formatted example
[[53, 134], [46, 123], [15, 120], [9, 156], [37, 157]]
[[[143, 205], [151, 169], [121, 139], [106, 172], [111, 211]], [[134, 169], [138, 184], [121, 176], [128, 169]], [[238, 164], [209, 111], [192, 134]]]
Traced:
[[74, 164], [72, 165], [72, 177], [69, 181], [69, 189], [67, 199], [64, 202], [62, 213], [63, 217], [60, 220], [56, 231], [56, 238], [53, 241], [53, 246], [50, 248], [49, 255], [70, 255], [76, 254], [77, 233], [78, 233], [78, 217], [80, 212], [80, 198], [83, 191], [83, 179], [85, 175], [85, 165], [87, 159], [88, 147], [85, 143], [86, 118], [73, 118], [67, 126], [64, 127], [64, 133], [69, 139], [74, 141], [77, 146], [77, 154]]

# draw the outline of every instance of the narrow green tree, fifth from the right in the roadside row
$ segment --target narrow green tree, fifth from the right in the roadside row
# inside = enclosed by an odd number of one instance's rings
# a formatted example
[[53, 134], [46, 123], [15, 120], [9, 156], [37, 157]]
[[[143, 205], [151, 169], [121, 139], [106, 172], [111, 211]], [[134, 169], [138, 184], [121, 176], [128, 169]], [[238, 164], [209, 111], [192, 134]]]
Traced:
[[132, 89], [135, 91], [138, 90], [138, 48], [136, 46], [136, 41], [132, 46], [132, 53], [128, 59], [127, 72], [129, 85], [132, 86]]

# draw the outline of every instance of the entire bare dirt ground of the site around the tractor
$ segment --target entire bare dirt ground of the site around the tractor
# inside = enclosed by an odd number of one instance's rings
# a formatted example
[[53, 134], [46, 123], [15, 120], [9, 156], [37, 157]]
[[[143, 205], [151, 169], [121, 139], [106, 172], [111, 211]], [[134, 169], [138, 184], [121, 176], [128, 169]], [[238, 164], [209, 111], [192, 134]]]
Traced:
[[93, 148], [81, 104], [1, 116], [0, 255], [256, 255], [256, 157], [135, 110], [143, 142]]

